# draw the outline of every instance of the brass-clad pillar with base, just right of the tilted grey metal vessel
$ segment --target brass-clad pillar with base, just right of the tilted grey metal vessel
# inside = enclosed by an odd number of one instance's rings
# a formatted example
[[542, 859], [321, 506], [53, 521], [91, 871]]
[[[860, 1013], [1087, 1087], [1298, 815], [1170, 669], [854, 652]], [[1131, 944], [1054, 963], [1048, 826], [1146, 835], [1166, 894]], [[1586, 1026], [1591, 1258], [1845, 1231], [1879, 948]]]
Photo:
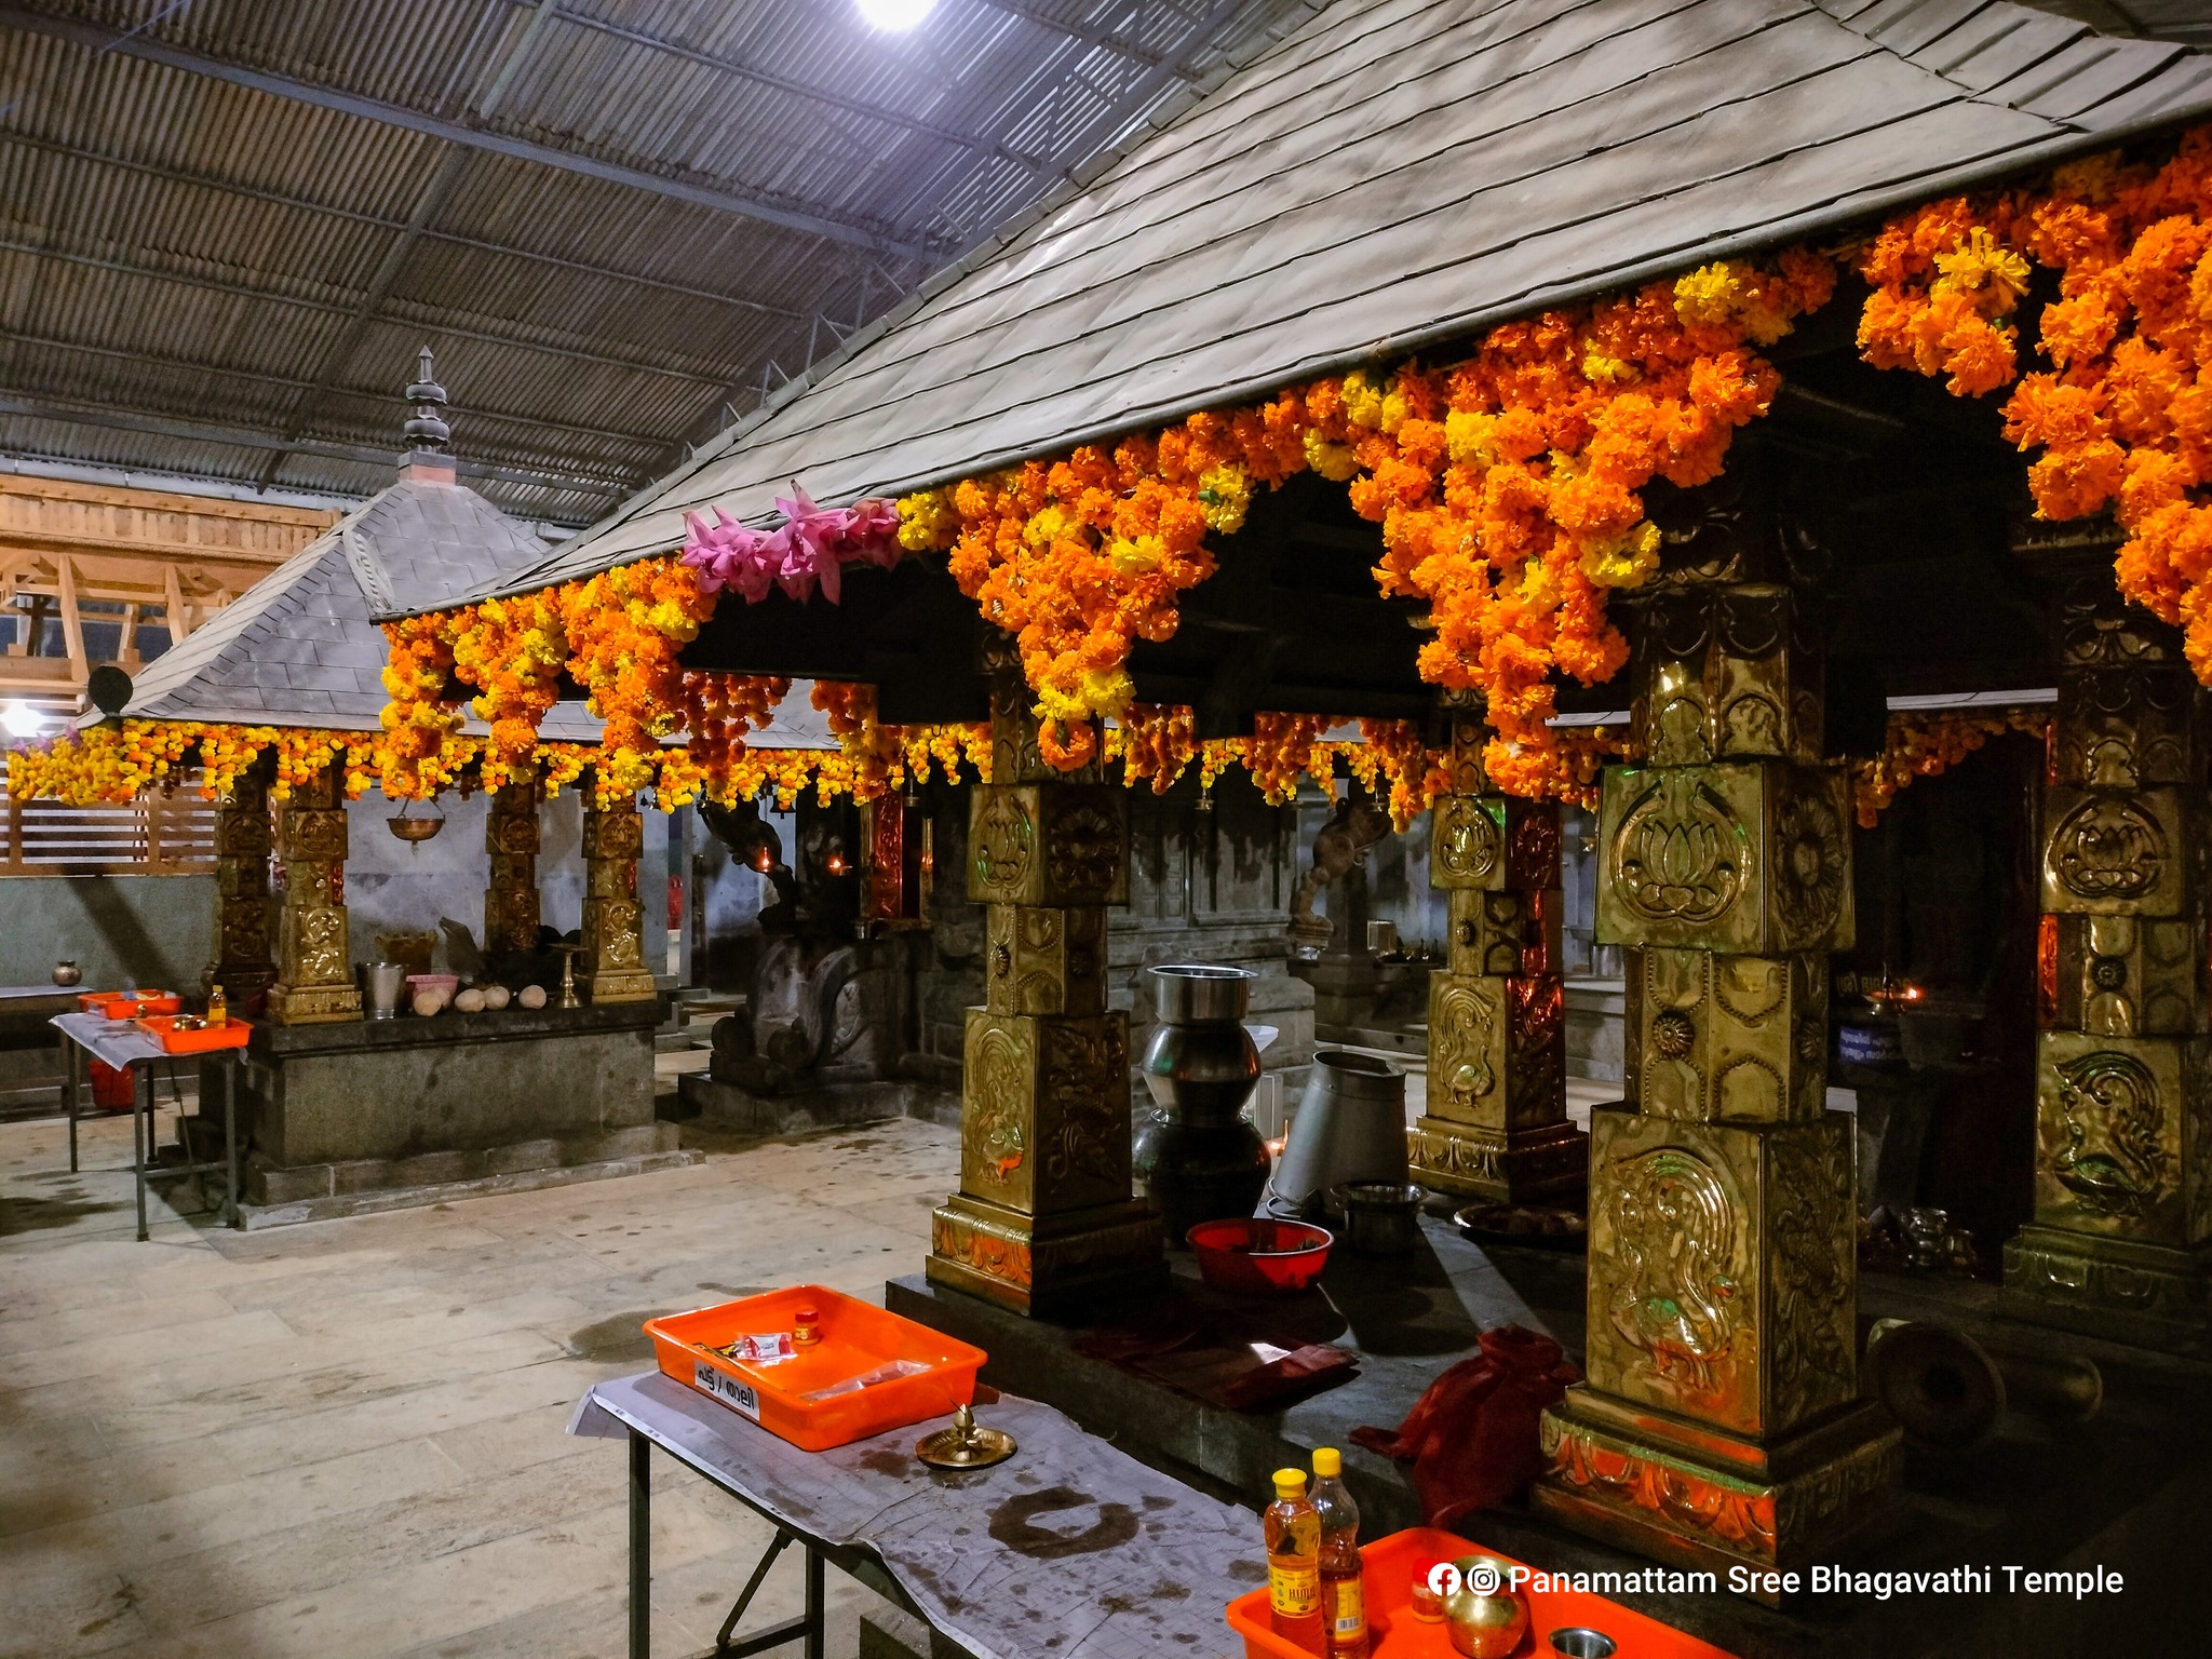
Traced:
[[1413, 1179], [1498, 1203], [1573, 1197], [1588, 1137], [1566, 1121], [1559, 805], [1491, 790], [1480, 699], [1444, 695], [1451, 794], [1429, 816], [1429, 885], [1451, 894], [1429, 975], [1429, 1110]]

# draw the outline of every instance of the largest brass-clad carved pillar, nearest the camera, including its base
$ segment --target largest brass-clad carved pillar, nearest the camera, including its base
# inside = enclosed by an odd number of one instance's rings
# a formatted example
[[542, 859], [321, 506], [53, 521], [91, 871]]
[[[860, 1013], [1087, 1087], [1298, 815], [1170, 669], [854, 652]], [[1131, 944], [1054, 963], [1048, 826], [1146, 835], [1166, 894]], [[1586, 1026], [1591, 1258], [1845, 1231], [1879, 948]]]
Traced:
[[1902, 1469], [1856, 1398], [1854, 1139], [1825, 1108], [1851, 805], [1781, 546], [1717, 515], [1635, 611], [1646, 761], [1606, 770], [1597, 889], [1632, 1097], [1590, 1121], [1588, 1380], [1544, 1416], [1535, 1493], [1723, 1582], [1832, 1555]]

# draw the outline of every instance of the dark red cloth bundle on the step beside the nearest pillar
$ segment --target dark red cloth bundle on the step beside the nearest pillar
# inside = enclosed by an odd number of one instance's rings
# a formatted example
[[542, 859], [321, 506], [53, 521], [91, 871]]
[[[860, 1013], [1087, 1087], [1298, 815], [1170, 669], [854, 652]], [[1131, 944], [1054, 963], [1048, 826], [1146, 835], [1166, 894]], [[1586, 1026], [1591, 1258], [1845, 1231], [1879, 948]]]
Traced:
[[1352, 1431], [1358, 1444], [1413, 1464], [1422, 1520], [1444, 1531], [1535, 1480], [1544, 1467], [1537, 1418], [1582, 1380], [1542, 1332], [1500, 1325], [1480, 1340], [1482, 1352], [1438, 1376], [1396, 1433]]

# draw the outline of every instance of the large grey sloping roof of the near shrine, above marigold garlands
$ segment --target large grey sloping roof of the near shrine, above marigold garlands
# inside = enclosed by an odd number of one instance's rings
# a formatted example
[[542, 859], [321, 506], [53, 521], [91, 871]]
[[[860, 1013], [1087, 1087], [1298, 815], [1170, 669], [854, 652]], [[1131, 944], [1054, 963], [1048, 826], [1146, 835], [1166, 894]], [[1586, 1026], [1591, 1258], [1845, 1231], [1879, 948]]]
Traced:
[[1053, 453], [2212, 111], [2006, 0], [1336, 0], [507, 591]]

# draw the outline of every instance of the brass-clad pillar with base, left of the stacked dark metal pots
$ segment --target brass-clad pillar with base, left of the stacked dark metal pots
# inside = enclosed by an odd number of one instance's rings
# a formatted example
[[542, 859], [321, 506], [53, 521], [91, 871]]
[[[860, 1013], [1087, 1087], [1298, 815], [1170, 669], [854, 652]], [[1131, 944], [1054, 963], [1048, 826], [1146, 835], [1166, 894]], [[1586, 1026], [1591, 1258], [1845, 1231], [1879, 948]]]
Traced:
[[987, 1002], [967, 1013], [960, 1192], [931, 1217], [929, 1279], [1042, 1316], [1157, 1279], [1161, 1241], [1130, 1197], [1128, 1015], [1106, 1009], [1128, 796], [1095, 770], [1044, 765], [1009, 661], [967, 883], [989, 905]]

